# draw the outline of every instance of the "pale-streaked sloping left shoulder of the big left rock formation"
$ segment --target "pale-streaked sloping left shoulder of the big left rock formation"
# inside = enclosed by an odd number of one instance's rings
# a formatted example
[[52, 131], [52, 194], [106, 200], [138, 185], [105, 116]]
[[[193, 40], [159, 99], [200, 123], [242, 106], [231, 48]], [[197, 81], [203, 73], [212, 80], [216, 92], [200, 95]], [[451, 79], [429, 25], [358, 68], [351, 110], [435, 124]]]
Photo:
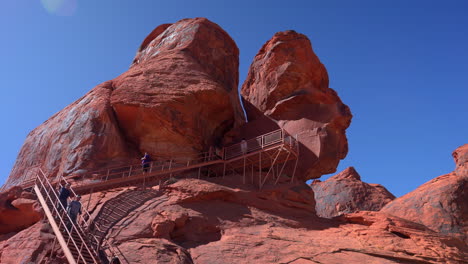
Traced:
[[104, 82], [29, 133], [5, 186], [36, 176], [41, 168], [55, 177], [136, 156], [114, 117], [112, 82]]

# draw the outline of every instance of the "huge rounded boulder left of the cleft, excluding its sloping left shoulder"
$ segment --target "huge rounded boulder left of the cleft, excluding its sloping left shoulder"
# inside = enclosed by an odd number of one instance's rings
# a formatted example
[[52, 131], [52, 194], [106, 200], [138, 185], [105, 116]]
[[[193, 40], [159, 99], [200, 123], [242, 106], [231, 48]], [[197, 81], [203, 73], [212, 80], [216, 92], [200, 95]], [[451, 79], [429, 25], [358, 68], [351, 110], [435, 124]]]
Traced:
[[205, 18], [156, 28], [114, 80], [111, 103], [123, 133], [157, 156], [191, 156], [219, 144], [244, 122], [238, 57], [235, 42]]

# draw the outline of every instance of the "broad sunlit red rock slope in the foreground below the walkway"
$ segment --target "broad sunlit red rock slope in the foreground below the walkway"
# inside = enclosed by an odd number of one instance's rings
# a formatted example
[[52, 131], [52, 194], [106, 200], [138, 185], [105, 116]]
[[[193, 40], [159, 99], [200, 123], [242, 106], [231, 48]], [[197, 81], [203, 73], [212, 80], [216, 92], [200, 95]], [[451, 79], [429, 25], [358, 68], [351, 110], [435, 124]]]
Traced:
[[[126, 190], [93, 194], [92, 215]], [[325, 220], [314, 206], [305, 184], [258, 191], [240, 175], [184, 179], [118, 221], [108, 237], [129, 263], [462, 263], [468, 250], [456, 238], [382, 212]], [[11, 258], [6, 250], [1, 263]], [[14, 252], [33, 259], [32, 250]]]

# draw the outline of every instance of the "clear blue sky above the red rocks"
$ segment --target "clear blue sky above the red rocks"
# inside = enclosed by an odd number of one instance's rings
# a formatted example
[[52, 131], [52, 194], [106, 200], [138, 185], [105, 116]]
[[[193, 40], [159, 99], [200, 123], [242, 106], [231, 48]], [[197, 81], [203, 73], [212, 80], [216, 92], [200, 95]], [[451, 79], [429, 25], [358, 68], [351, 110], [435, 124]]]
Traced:
[[240, 85], [275, 32], [310, 38], [354, 115], [338, 171], [354, 166], [400, 196], [452, 171], [468, 143], [468, 1], [74, 0], [54, 11], [61, 1], [0, 2], [0, 184], [32, 129], [127, 70], [153, 28], [187, 17], [237, 42]]

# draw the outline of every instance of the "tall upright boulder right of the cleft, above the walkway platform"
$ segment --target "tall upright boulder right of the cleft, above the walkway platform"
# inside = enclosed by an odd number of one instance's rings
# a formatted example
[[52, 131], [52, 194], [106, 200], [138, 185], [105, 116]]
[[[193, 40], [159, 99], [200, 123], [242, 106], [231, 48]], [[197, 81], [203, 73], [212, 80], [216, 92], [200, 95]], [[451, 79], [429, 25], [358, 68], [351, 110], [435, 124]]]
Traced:
[[303, 179], [336, 171], [348, 152], [345, 129], [352, 115], [328, 87], [327, 71], [306, 36], [285, 31], [267, 41], [250, 66], [241, 94], [251, 126], [267, 126], [269, 121], [298, 134], [298, 174]]

